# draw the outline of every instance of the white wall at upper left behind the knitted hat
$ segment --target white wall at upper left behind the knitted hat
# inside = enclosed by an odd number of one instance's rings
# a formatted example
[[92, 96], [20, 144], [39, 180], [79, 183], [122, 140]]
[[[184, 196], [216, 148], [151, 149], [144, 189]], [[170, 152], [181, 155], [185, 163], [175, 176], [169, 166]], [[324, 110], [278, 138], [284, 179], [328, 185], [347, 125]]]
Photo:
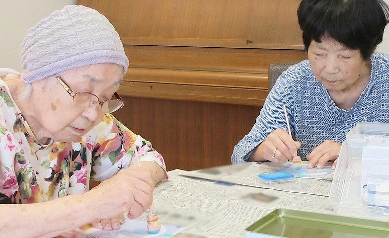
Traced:
[[20, 44], [28, 28], [77, 0], [0, 0], [0, 68], [21, 71]]

